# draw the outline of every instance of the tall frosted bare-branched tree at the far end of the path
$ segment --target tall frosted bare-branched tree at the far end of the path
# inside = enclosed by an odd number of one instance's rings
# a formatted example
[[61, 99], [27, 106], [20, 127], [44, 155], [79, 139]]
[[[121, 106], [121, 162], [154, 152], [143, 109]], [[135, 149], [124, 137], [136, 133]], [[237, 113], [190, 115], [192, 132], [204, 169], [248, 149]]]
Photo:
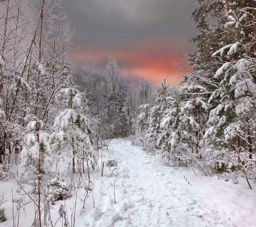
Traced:
[[[108, 128], [107, 138], [127, 136], [131, 132], [132, 111], [127, 95], [123, 92], [124, 78], [120, 75], [120, 66], [110, 55], [105, 67], [105, 77], [98, 85], [98, 117], [100, 125]], [[130, 131], [130, 132], [129, 132]]]

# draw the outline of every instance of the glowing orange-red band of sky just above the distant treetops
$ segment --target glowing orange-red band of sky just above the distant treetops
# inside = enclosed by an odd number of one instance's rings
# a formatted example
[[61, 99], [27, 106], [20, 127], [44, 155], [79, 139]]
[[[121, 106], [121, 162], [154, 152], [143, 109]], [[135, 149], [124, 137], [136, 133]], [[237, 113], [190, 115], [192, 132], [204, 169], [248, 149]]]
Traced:
[[[173, 42], [175, 45], [173, 46]], [[142, 41], [122, 41], [115, 46], [81, 45], [72, 53], [72, 58], [79, 65], [83, 65], [83, 59], [88, 53], [92, 56], [94, 71], [104, 74], [111, 53], [121, 65], [121, 74], [129, 81], [140, 78], [150, 79], [153, 83], [160, 84], [166, 78], [167, 83], [177, 86], [180, 79], [174, 64], [179, 64], [184, 59], [185, 49], [194, 52], [194, 48], [184, 45], [186, 42], [180, 37], [154, 37]], [[136, 82], [135, 82], [136, 83]]]

